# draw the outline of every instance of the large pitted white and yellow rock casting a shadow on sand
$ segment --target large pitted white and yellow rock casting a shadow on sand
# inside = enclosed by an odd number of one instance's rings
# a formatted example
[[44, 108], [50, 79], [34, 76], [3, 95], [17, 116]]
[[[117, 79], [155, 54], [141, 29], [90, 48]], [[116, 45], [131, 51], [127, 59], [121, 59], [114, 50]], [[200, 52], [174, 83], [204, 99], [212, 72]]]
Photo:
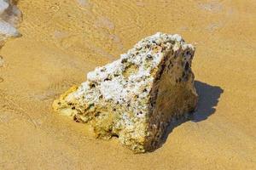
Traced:
[[53, 108], [90, 123], [98, 138], [118, 136], [135, 152], [154, 150], [173, 118], [195, 110], [194, 53], [182, 37], [158, 32], [89, 72], [87, 81], [62, 94]]

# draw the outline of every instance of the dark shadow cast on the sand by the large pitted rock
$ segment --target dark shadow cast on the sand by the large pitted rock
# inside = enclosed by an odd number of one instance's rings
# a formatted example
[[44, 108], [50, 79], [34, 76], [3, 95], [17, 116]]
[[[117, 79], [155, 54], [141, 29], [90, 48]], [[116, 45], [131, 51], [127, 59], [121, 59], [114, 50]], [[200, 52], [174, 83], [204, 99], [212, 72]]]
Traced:
[[199, 81], [195, 81], [195, 89], [199, 96], [196, 110], [192, 113], [189, 113], [187, 116], [172, 121], [167, 127], [166, 133], [163, 136], [158, 148], [166, 143], [166, 139], [168, 138], [169, 134], [172, 133], [172, 130], [175, 127], [183, 124], [183, 122], [205, 121], [216, 111], [215, 107], [218, 105], [218, 100], [220, 95], [224, 93], [224, 90], [218, 86], [211, 86], [205, 82]]

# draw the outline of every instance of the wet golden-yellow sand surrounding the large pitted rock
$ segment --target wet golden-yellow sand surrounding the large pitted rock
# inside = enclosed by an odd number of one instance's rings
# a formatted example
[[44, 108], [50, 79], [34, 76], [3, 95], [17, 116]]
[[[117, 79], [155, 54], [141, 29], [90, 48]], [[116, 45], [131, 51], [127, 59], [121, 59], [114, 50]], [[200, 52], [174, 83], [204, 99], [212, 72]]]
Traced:
[[[22, 0], [22, 37], [1, 49], [0, 169], [256, 169], [256, 2]], [[192, 121], [170, 127], [154, 152], [117, 139], [51, 104], [97, 65], [156, 31], [196, 46]]]

